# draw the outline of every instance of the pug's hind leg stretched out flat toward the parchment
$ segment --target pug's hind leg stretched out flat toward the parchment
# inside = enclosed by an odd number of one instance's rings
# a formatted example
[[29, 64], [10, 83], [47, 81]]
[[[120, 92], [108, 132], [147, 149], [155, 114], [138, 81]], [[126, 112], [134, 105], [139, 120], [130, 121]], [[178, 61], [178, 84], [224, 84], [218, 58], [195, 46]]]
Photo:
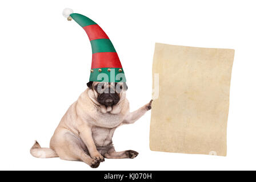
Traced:
[[125, 159], [130, 158], [133, 159], [137, 157], [139, 153], [134, 150], [125, 150], [122, 152], [116, 152], [114, 148], [111, 148], [109, 151], [107, 151], [106, 154], [104, 154], [104, 157], [107, 159]]

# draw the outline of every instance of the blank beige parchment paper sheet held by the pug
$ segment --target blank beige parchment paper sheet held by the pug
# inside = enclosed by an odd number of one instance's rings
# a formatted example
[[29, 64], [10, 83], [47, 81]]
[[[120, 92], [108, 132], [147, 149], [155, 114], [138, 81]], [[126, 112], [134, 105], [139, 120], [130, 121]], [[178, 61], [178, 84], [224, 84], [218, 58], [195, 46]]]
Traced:
[[226, 156], [233, 60], [233, 49], [155, 44], [151, 150]]

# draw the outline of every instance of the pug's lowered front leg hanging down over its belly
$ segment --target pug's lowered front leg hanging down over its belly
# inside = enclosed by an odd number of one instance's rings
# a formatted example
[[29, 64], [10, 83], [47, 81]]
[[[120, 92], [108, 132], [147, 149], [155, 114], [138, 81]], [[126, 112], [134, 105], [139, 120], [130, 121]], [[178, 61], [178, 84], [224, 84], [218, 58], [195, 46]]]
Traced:
[[88, 125], [83, 125], [80, 127], [80, 137], [83, 140], [83, 143], [85, 143], [91, 158], [97, 159], [100, 162], [104, 161], [104, 158], [99, 152], [97, 151], [97, 148], [95, 146], [93, 136], [91, 134], [91, 127]]

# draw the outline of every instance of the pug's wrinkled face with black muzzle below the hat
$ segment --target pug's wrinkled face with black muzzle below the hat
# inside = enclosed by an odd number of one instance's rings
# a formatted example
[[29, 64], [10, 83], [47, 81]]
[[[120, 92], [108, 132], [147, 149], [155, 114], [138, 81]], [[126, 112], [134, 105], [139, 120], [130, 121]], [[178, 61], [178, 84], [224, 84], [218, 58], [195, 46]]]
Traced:
[[125, 82], [93, 82], [87, 83], [87, 86], [94, 91], [95, 99], [101, 105], [112, 107], [121, 100], [127, 90]]

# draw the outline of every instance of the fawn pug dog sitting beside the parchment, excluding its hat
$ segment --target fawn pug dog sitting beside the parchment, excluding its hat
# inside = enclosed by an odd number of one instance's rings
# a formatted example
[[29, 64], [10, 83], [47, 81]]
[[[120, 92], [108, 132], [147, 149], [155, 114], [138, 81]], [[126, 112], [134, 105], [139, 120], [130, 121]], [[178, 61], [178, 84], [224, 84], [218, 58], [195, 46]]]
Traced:
[[133, 150], [115, 151], [112, 137], [117, 127], [134, 123], [150, 110], [152, 100], [130, 112], [126, 82], [90, 81], [87, 86], [61, 119], [50, 140], [50, 148], [41, 148], [35, 141], [31, 155], [78, 160], [92, 168], [97, 168], [104, 158], [133, 159], [138, 155]]

